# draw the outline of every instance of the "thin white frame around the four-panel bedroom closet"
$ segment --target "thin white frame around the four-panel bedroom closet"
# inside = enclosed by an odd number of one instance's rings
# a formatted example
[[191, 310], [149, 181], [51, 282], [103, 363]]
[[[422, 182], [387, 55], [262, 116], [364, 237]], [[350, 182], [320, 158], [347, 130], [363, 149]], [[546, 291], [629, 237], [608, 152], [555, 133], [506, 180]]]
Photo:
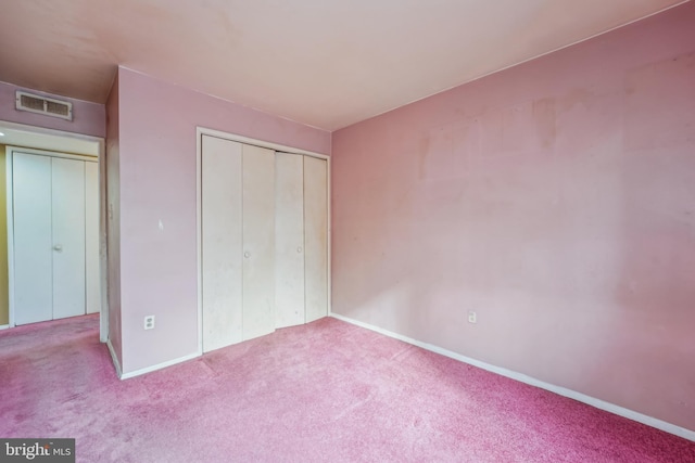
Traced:
[[269, 150], [274, 150], [274, 151], [280, 151], [283, 153], [290, 153], [290, 154], [299, 154], [299, 155], [304, 155], [304, 156], [312, 156], [312, 157], [316, 157], [319, 159], [324, 159], [326, 160], [326, 169], [327, 169], [327, 184], [326, 184], [326, 192], [327, 192], [327, 203], [328, 203], [328, 210], [327, 210], [327, 215], [328, 215], [328, 230], [326, 231], [328, 233], [328, 249], [326, 250], [327, 253], [327, 259], [328, 259], [328, 268], [327, 268], [327, 275], [326, 275], [326, 280], [328, 282], [328, 288], [327, 288], [327, 293], [328, 293], [328, 300], [326, 301], [327, 306], [328, 306], [328, 314], [331, 314], [331, 279], [330, 279], [330, 274], [331, 274], [331, 242], [330, 242], [330, 235], [331, 235], [331, 201], [330, 201], [330, 192], [331, 192], [331, 185], [330, 185], [330, 156], [325, 155], [325, 154], [320, 154], [320, 153], [314, 153], [312, 151], [306, 151], [306, 150], [301, 150], [298, 147], [293, 147], [293, 146], [286, 146], [282, 144], [278, 144], [278, 143], [273, 143], [273, 142], [267, 142], [267, 141], [263, 141], [263, 140], [257, 140], [257, 139], [252, 139], [249, 137], [243, 137], [243, 136], [239, 136], [236, 133], [229, 133], [229, 132], [224, 132], [224, 131], [219, 131], [219, 130], [214, 130], [214, 129], [208, 129], [205, 127], [197, 127], [195, 128], [195, 203], [197, 203], [197, 245], [198, 245], [198, 353], [202, 355], [203, 353], [203, 293], [202, 293], [202, 287], [203, 287], [203, 274], [202, 274], [202, 248], [203, 248], [203, 243], [202, 243], [202, 140], [203, 140], [203, 136], [208, 136], [208, 137], [216, 137], [223, 140], [229, 140], [229, 141], [236, 141], [239, 143], [243, 143], [243, 144], [250, 144], [250, 145], [254, 145], [254, 146], [260, 146], [260, 147], [266, 147]]

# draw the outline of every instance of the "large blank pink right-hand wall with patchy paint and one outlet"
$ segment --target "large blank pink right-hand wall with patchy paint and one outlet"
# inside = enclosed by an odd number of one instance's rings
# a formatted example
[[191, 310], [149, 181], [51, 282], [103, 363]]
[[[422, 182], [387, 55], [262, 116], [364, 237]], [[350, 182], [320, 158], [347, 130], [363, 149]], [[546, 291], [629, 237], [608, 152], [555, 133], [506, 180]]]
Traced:
[[693, 24], [334, 132], [333, 312], [695, 429]]

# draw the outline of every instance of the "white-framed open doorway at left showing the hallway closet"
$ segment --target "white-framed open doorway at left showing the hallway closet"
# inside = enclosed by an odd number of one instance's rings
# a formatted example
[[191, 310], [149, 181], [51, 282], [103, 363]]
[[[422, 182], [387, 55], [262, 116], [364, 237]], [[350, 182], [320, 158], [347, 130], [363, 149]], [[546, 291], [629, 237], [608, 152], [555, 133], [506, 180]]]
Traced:
[[[5, 121], [0, 121], [0, 133], [9, 252], [3, 327], [98, 311], [100, 340], [105, 342], [104, 140]], [[17, 188], [24, 189], [22, 198], [13, 197]], [[36, 245], [47, 240], [50, 243]], [[34, 305], [42, 313], [26, 312], [27, 295], [42, 298]]]

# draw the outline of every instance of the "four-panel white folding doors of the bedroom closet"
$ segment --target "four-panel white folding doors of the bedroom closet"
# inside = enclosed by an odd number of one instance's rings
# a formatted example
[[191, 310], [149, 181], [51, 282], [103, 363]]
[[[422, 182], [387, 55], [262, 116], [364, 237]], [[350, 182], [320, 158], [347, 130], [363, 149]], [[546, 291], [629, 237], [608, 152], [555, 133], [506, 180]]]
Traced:
[[328, 314], [324, 158], [201, 139], [203, 351]]

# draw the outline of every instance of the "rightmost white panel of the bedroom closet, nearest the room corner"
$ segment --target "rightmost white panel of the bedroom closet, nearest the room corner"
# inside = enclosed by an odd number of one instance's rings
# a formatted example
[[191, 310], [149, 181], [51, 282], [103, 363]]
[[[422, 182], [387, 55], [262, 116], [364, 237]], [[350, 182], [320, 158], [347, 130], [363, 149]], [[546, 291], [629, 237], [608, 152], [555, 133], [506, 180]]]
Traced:
[[304, 156], [304, 266], [306, 322], [328, 314], [327, 162]]

